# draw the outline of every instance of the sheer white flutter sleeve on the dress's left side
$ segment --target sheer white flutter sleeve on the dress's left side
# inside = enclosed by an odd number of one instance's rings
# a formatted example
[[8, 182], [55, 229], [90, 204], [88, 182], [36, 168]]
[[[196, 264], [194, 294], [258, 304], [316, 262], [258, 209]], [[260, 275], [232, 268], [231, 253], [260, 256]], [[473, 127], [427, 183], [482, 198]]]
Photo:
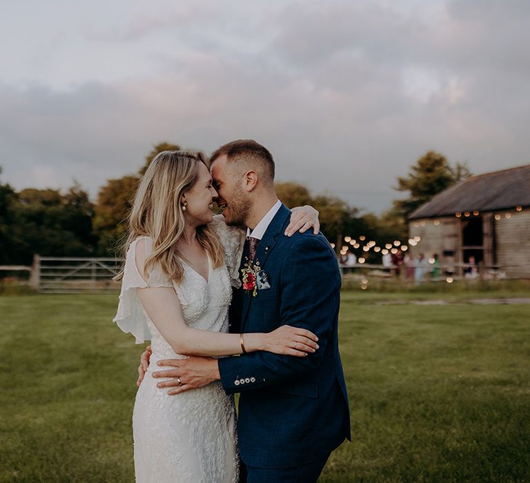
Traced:
[[146, 240], [146, 255], [149, 255], [152, 242], [148, 237], [135, 239], [127, 250], [124, 267], [124, 277], [121, 279], [121, 292], [119, 293], [119, 304], [117, 313], [112, 319], [125, 333], [135, 336], [136, 343], [142, 344], [151, 339], [148, 327], [148, 316], [139, 301], [136, 289], [150, 287], [173, 287], [170, 279], [164, 275], [159, 265], [148, 268], [148, 281], [141, 277], [136, 266], [137, 243], [140, 239]]

